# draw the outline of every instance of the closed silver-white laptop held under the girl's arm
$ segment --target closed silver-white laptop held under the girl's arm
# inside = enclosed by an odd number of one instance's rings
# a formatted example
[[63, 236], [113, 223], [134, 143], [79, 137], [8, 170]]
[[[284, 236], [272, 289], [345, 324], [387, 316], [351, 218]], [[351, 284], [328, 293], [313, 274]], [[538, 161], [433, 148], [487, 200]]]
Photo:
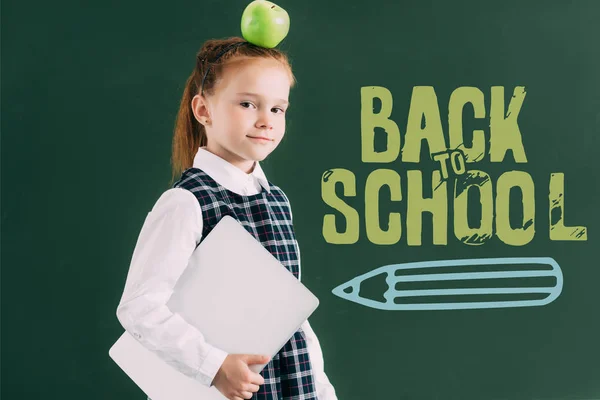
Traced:
[[[190, 257], [167, 306], [229, 354], [271, 358], [319, 305], [234, 218], [224, 216]], [[224, 318], [224, 316], [227, 316]], [[152, 400], [223, 400], [124, 332], [110, 357]], [[252, 365], [259, 373], [265, 367]]]

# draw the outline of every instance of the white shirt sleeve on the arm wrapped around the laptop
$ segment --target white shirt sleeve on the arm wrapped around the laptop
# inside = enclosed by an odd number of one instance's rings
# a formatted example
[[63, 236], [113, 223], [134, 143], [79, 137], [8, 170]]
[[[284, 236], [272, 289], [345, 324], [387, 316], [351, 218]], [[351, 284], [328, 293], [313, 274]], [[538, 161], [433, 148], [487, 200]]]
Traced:
[[117, 318], [165, 362], [210, 386], [227, 353], [166, 305], [201, 236], [194, 195], [180, 188], [164, 192], [139, 234]]

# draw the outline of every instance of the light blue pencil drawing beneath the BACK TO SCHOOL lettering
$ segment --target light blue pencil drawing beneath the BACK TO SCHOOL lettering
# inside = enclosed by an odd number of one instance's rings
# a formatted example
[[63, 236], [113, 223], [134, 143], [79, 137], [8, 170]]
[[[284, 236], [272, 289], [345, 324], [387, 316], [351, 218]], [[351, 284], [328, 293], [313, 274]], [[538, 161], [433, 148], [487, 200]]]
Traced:
[[[383, 278], [385, 292], [361, 293], [369, 281]], [[332, 293], [380, 310], [457, 310], [543, 306], [556, 300], [562, 287], [562, 271], [550, 257], [482, 258], [386, 265]]]

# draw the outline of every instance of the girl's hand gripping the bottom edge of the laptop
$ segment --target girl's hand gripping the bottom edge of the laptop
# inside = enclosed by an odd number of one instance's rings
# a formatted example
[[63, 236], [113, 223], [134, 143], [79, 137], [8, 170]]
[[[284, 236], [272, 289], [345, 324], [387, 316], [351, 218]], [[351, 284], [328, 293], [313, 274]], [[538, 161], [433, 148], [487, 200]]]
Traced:
[[269, 360], [268, 356], [229, 354], [215, 375], [213, 385], [229, 400], [250, 399], [265, 380], [248, 366], [266, 364]]

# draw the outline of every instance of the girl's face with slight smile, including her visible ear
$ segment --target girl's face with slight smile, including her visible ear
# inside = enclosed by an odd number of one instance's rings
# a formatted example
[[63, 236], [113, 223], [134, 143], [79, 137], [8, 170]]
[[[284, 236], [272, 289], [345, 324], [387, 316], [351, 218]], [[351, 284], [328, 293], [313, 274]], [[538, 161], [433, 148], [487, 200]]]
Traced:
[[192, 103], [206, 128], [207, 150], [250, 173], [283, 138], [289, 93], [290, 76], [276, 60], [246, 58], [226, 66], [214, 95]]

